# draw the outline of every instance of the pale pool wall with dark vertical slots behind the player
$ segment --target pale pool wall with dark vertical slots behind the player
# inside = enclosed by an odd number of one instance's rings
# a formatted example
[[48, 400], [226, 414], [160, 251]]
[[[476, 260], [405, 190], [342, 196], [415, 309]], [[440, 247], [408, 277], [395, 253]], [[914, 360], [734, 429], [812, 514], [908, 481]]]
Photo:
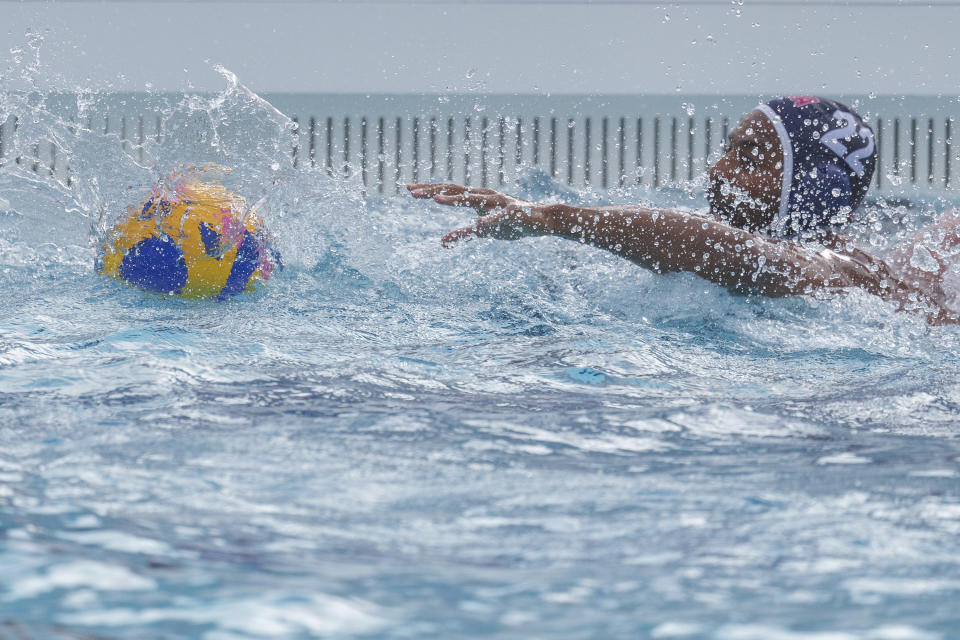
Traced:
[[[702, 176], [756, 96], [545, 96], [267, 94], [296, 123], [294, 164], [356, 176], [368, 193], [446, 180], [509, 188], [537, 168], [573, 187], [677, 186]], [[169, 95], [115, 94], [79, 125], [114, 134], [144, 160], [143, 143], [163, 136], [158, 104]], [[762, 98], [761, 98], [762, 99]], [[879, 156], [873, 192], [960, 189], [953, 144], [955, 98], [841, 96], [873, 126]], [[49, 99], [76, 120], [67, 95]], [[29, 163], [72, 180], [53, 144], [14, 153], [19, 118], [0, 126], [0, 163]]]

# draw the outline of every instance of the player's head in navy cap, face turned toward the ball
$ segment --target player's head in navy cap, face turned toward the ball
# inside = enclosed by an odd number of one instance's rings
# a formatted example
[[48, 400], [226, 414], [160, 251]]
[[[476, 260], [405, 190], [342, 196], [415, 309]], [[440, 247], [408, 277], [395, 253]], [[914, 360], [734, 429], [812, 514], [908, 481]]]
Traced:
[[750, 112], [710, 170], [711, 208], [731, 224], [777, 236], [849, 222], [870, 187], [873, 131], [848, 107], [808, 96]]

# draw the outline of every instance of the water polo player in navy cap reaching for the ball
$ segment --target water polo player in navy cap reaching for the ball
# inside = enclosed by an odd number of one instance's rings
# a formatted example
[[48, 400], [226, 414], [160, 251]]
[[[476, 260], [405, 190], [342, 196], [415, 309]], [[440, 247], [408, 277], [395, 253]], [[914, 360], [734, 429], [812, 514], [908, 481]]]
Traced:
[[443, 236], [445, 246], [472, 237], [553, 235], [738, 291], [788, 296], [860, 288], [933, 324], [958, 323], [960, 296], [948, 290], [960, 280], [949, 270], [960, 253], [960, 216], [919, 232], [890, 262], [838, 235], [869, 189], [875, 158], [873, 132], [859, 116], [831, 100], [794, 96], [761, 105], [731, 132], [710, 169], [709, 212], [534, 203], [446, 183], [407, 188], [415, 198], [481, 213], [475, 224]]

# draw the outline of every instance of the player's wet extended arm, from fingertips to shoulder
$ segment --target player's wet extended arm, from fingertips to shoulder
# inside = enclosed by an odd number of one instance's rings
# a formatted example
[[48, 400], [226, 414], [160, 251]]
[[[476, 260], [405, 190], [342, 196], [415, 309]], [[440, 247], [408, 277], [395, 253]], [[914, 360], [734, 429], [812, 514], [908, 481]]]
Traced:
[[770, 296], [858, 285], [876, 278], [827, 252], [774, 242], [695, 214], [639, 206], [575, 207], [536, 204], [491, 189], [452, 184], [408, 185], [416, 198], [493, 211], [443, 237], [445, 245], [471, 236], [514, 239], [557, 235], [623, 256], [656, 271], [689, 271], [717, 284]]

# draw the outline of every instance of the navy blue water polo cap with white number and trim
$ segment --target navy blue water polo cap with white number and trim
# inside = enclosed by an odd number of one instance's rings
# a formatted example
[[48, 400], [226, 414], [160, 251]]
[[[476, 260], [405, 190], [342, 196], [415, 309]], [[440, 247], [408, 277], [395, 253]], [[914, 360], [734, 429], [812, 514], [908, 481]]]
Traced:
[[791, 96], [757, 108], [783, 146], [780, 210], [770, 231], [793, 236], [836, 230], [853, 220], [876, 165], [873, 129], [827, 98]]

